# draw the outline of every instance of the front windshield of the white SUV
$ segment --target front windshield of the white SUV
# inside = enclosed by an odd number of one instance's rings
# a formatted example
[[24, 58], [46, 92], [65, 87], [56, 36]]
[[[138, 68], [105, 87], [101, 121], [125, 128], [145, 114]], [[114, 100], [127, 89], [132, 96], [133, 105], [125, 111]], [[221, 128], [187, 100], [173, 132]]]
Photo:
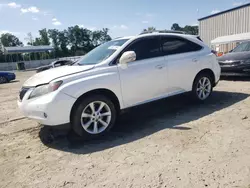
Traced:
[[79, 61], [76, 62], [77, 65], [93, 65], [104, 61], [109, 58], [119, 47], [121, 47], [128, 39], [113, 40], [106, 42], [89, 53], [83, 56]]

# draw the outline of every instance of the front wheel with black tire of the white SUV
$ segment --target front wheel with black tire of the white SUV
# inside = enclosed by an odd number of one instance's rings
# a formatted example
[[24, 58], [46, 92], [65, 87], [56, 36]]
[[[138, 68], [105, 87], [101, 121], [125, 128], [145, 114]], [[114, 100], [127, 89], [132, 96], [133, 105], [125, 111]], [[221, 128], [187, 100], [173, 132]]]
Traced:
[[73, 110], [71, 124], [77, 135], [91, 139], [108, 132], [116, 116], [115, 106], [109, 98], [92, 95], [84, 98]]

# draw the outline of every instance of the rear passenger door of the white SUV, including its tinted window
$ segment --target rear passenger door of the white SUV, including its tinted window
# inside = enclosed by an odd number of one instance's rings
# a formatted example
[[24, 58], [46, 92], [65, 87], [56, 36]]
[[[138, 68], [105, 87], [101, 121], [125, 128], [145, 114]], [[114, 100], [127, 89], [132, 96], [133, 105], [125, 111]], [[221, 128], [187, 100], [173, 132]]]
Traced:
[[192, 89], [199, 71], [199, 53], [202, 47], [182, 37], [164, 36], [162, 50], [167, 62], [168, 93], [182, 93]]

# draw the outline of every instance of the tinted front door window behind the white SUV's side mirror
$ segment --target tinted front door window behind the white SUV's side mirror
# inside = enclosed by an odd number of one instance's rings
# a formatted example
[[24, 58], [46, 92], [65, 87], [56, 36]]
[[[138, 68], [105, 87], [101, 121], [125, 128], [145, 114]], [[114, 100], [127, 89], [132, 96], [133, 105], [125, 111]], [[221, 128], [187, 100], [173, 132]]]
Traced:
[[158, 57], [161, 55], [159, 38], [140, 39], [129, 46], [126, 51], [134, 51], [136, 60]]

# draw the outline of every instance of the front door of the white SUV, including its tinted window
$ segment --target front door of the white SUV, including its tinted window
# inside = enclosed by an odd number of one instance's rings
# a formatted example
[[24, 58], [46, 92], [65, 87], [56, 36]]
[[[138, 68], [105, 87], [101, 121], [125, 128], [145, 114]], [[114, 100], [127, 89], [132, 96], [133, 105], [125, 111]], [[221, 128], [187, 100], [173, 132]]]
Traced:
[[118, 64], [124, 105], [131, 107], [166, 95], [167, 67], [160, 37], [138, 39], [125, 51], [134, 51], [136, 61], [125, 67]]

